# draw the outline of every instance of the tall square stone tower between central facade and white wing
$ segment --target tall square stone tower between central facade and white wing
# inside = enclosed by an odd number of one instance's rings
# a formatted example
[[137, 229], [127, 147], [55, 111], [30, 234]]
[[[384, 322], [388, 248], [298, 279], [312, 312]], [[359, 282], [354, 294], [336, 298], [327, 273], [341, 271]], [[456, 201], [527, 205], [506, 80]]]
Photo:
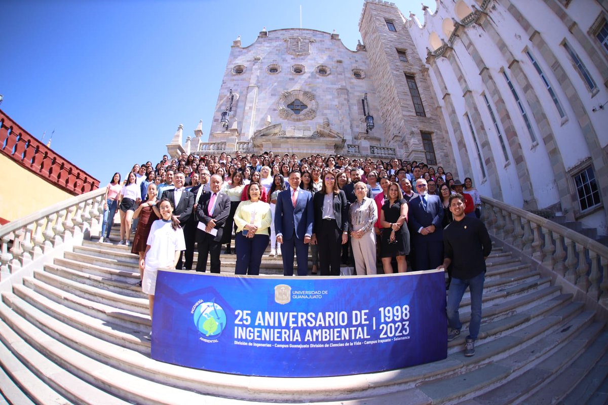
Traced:
[[363, 5], [359, 31], [379, 95], [383, 141], [400, 151], [399, 157], [451, 167], [437, 99], [407, 24], [393, 3], [368, 0]]

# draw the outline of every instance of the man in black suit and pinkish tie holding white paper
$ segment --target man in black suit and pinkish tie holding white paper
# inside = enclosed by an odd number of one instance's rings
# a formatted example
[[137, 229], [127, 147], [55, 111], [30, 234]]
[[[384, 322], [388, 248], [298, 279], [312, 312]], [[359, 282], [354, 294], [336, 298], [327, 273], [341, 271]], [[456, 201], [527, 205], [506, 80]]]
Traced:
[[196, 230], [196, 242], [198, 243], [198, 262], [196, 271], [207, 271], [207, 257], [211, 254], [211, 272], [219, 273], [221, 261], [222, 234], [224, 225], [230, 214], [230, 197], [223, 192], [223, 179], [221, 175], [214, 174], [209, 180], [211, 191], [202, 193], [196, 203], [196, 217], [204, 225], [204, 229]]

